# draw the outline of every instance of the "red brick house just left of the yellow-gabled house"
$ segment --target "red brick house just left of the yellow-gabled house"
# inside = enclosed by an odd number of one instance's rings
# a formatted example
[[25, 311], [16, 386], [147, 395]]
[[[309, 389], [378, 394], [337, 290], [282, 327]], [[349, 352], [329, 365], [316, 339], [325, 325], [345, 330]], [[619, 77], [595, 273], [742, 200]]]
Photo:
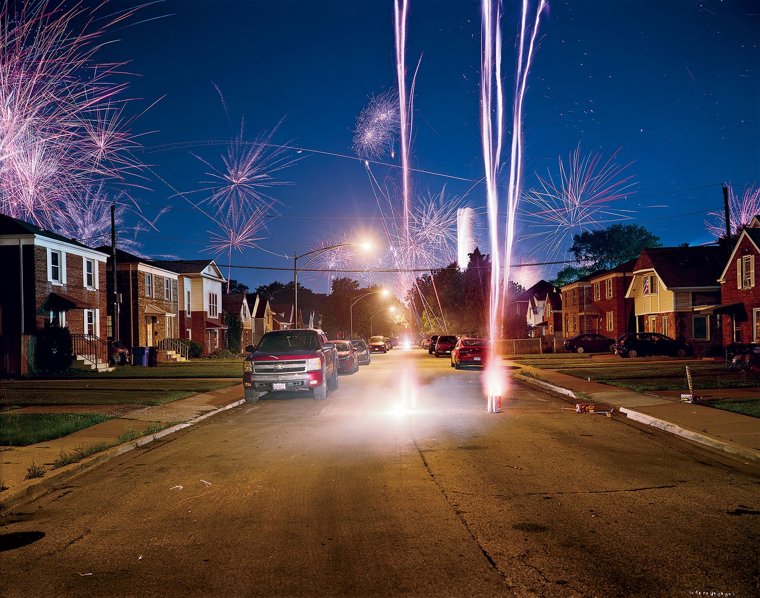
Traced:
[[596, 320], [594, 330], [611, 339], [617, 339], [625, 332], [633, 332], [633, 301], [625, 297], [629, 283], [633, 278], [633, 269], [637, 259], [630, 259], [616, 268], [596, 272], [588, 278], [591, 285], [591, 307], [583, 315]]

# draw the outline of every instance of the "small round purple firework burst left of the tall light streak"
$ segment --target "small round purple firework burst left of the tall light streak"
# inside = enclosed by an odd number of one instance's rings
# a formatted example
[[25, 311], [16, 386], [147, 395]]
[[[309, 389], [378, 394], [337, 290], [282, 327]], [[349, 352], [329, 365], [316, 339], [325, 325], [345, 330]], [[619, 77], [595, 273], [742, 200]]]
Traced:
[[353, 151], [363, 160], [393, 156], [393, 146], [401, 130], [398, 94], [395, 91], [372, 97], [356, 119]]

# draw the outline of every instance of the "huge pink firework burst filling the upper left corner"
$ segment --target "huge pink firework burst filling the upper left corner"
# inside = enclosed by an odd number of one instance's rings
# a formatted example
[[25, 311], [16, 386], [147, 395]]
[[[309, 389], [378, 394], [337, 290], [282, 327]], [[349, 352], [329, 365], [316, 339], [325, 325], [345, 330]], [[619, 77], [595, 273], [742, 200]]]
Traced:
[[121, 117], [128, 100], [119, 100], [120, 65], [94, 59], [99, 38], [134, 12], [98, 19], [81, 4], [3, 3], [0, 212], [54, 229], [87, 186], [123, 183], [127, 170], [139, 168], [128, 156], [136, 144], [131, 120]]

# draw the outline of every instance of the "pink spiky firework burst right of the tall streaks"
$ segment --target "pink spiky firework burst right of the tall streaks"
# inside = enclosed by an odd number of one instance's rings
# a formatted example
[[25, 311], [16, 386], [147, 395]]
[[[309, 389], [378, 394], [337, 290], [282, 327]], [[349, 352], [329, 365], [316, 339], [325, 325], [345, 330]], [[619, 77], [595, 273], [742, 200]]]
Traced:
[[568, 164], [559, 158], [559, 172], [537, 176], [540, 188], [524, 193], [522, 218], [530, 230], [522, 240], [531, 240], [535, 255], [545, 251], [556, 258], [581, 234], [610, 222], [631, 218], [631, 211], [613, 208], [633, 186], [625, 176], [630, 164], [616, 164], [617, 152], [607, 160], [601, 154], [581, 157], [581, 148], [570, 154]]

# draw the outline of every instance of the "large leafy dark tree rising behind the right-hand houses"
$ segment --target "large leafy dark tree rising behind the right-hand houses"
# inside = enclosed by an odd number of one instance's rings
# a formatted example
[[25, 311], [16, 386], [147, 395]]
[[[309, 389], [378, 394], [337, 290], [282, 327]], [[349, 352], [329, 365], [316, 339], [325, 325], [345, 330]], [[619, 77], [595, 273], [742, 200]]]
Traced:
[[599, 231], [574, 234], [572, 238], [570, 250], [589, 272], [613, 269], [638, 256], [641, 250], [663, 246], [660, 237], [638, 224], [613, 224]]

